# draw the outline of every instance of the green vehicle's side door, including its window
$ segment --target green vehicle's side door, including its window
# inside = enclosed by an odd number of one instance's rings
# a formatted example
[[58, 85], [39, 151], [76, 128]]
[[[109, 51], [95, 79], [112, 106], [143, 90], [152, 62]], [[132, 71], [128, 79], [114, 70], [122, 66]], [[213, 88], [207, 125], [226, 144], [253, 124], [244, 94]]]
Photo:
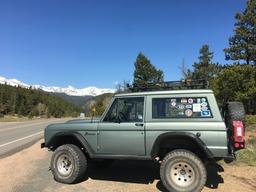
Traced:
[[144, 97], [116, 98], [98, 130], [99, 154], [145, 155]]

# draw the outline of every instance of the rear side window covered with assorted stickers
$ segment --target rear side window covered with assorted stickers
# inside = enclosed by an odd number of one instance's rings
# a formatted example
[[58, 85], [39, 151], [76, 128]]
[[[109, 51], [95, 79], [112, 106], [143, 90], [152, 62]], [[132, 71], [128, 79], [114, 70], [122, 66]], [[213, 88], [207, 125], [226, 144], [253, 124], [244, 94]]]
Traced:
[[206, 97], [153, 98], [152, 118], [212, 118], [212, 112]]

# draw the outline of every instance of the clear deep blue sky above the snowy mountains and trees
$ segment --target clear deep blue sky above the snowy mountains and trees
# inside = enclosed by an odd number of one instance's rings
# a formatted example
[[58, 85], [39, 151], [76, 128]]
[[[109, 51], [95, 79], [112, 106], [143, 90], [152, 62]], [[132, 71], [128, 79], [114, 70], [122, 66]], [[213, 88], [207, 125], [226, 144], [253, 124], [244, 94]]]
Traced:
[[0, 76], [29, 84], [115, 87], [139, 52], [178, 80], [209, 44], [214, 61], [245, 0], [0, 0]]

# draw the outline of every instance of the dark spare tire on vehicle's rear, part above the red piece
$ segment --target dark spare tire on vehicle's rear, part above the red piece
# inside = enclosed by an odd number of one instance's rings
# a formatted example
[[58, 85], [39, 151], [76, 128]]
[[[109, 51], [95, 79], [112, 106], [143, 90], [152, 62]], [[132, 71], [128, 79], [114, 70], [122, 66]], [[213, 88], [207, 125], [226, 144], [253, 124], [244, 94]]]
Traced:
[[228, 118], [230, 121], [238, 120], [238, 121], [244, 122], [245, 110], [244, 110], [244, 105], [242, 103], [228, 102], [227, 110], [228, 110]]

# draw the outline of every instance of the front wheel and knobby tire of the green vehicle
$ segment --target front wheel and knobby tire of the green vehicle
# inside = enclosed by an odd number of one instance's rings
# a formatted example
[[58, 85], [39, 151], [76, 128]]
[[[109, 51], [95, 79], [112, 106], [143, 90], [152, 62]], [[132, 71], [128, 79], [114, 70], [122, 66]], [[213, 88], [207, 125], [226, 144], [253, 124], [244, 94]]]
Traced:
[[[66, 164], [71, 166], [69, 167], [70, 169], [66, 169], [64, 167], [65, 165], [63, 165], [64, 161], [67, 159], [69, 163]], [[77, 183], [85, 175], [87, 169], [87, 159], [85, 154], [76, 145], [61, 145], [54, 151], [52, 155], [50, 168], [56, 181], [66, 184]], [[65, 170], [67, 171], [65, 172]]]

